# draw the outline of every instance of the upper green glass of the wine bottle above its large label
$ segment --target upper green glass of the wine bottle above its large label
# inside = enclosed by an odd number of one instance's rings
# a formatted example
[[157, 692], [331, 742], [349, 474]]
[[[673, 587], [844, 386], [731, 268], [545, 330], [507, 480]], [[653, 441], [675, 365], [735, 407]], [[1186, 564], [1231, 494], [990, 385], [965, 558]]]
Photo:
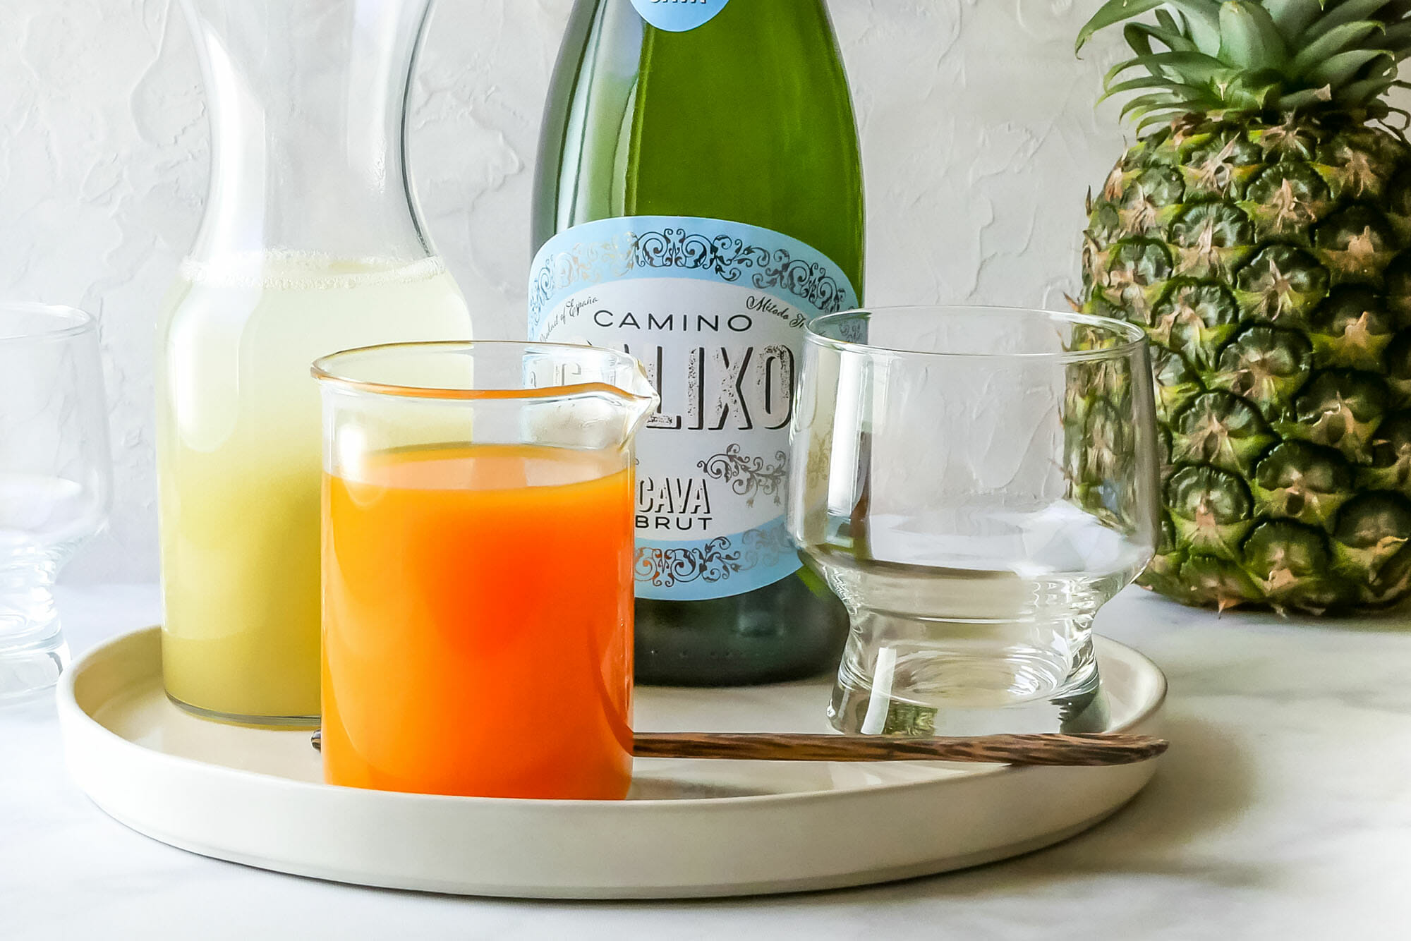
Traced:
[[540, 140], [535, 250], [600, 219], [725, 219], [803, 241], [861, 289], [861, 152], [823, 0], [731, 0], [680, 32], [632, 0], [580, 0]]

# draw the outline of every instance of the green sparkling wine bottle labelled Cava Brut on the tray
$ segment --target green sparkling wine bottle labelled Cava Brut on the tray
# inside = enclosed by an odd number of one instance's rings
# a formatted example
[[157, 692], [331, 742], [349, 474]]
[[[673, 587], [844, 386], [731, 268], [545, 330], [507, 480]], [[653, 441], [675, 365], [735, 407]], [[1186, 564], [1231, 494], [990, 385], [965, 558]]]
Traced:
[[785, 532], [803, 324], [859, 303], [858, 130], [824, 0], [579, 0], [535, 179], [529, 336], [636, 356], [636, 677], [821, 673], [842, 605]]

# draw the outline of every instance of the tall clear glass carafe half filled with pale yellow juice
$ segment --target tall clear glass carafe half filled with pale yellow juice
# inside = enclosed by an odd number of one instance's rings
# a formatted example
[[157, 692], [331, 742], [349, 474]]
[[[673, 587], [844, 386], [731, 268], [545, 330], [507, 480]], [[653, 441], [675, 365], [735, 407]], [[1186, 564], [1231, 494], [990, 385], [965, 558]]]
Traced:
[[212, 128], [196, 244], [157, 332], [168, 696], [319, 715], [319, 394], [349, 347], [470, 336], [406, 171], [430, 0], [183, 0]]

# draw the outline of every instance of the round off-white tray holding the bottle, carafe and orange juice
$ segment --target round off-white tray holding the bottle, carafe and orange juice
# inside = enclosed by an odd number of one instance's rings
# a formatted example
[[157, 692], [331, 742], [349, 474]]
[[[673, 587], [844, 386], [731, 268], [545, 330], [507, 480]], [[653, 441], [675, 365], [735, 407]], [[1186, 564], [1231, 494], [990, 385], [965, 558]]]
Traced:
[[[1165, 679], [1099, 639], [1112, 728], [1158, 732]], [[642, 687], [650, 731], [825, 731], [828, 686]], [[73, 664], [58, 690], [69, 767], [119, 821], [206, 856], [394, 889], [660, 899], [830, 889], [974, 866], [1092, 827], [1154, 762], [1007, 767], [638, 759], [625, 801], [332, 787], [308, 732], [207, 722], [168, 703], [157, 628]]]

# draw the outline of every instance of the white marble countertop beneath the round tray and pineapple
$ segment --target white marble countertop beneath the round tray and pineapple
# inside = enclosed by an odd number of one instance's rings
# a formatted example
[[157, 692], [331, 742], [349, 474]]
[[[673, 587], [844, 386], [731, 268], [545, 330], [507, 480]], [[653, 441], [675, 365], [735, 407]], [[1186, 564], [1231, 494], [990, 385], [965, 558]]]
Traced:
[[[71, 588], [75, 653], [155, 588]], [[63, 767], [48, 700], [0, 710], [0, 938], [1411, 937], [1411, 615], [1188, 611], [1129, 591], [1098, 629], [1171, 680], [1171, 751], [1096, 830], [967, 872], [818, 894], [529, 903], [360, 889], [128, 831]]]

